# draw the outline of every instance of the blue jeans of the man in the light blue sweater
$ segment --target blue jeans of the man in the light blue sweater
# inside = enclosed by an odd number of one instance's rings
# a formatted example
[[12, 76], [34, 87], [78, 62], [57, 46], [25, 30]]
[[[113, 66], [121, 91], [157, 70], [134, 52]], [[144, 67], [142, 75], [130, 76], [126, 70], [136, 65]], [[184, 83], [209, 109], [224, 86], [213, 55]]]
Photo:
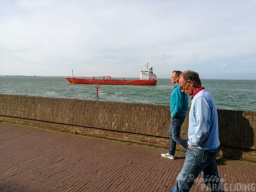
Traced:
[[212, 192], [224, 191], [220, 183], [216, 157], [219, 148], [214, 150], [201, 150], [187, 148], [186, 159], [181, 172], [176, 178], [176, 185], [170, 192], [187, 192], [193, 186], [197, 176], [202, 172], [204, 183]]

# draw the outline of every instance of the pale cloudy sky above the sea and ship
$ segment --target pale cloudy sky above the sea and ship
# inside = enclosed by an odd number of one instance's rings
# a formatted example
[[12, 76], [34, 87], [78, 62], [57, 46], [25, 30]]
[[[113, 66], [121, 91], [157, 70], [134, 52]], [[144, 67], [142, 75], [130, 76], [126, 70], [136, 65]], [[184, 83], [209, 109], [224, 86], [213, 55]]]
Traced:
[[0, 75], [256, 80], [255, 0], [1, 0]]

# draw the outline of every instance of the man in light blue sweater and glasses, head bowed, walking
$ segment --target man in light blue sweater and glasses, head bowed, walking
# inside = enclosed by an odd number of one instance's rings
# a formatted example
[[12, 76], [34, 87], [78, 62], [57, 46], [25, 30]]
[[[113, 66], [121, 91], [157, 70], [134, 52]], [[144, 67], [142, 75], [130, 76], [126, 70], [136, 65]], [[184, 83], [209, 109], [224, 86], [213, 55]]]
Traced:
[[200, 172], [205, 185], [212, 192], [224, 191], [216, 163], [219, 154], [219, 131], [215, 101], [210, 92], [202, 87], [198, 73], [184, 71], [179, 75], [179, 82], [182, 92], [192, 96], [192, 101], [186, 159], [176, 178], [176, 185], [170, 192], [189, 191]]

